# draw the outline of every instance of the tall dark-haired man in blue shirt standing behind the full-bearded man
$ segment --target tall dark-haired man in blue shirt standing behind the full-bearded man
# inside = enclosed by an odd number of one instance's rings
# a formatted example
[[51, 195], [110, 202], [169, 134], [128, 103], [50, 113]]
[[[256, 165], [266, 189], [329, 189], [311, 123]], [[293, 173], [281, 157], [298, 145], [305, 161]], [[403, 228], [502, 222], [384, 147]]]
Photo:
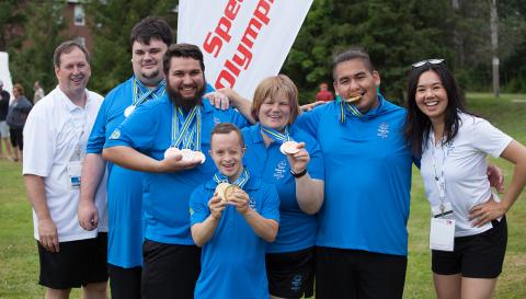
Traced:
[[129, 36], [134, 74], [104, 99], [89, 142], [81, 183], [79, 221], [87, 230], [99, 223], [94, 192], [106, 182], [108, 246], [107, 263], [112, 298], [139, 299], [142, 268], [142, 174], [102, 158], [104, 142], [133, 111], [165, 93], [162, 57], [172, 43], [172, 31], [160, 18], [146, 18]]

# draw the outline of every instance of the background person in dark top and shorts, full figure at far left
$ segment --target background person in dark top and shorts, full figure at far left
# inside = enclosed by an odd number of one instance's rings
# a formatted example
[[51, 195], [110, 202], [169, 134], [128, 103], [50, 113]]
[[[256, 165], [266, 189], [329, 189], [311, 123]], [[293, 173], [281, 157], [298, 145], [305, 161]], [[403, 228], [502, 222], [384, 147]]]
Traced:
[[24, 88], [16, 83], [13, 87], [13, 102], [9, 105], [8, 117], [5, 122], [9, 126], [9, 135], [11, 136], [11, 145], [13, 146], [14, 161], [22, 160], [22, 150], [24, 149], [24, 140], [22, 131], [25, 120], [33, 105], [24, 95]]

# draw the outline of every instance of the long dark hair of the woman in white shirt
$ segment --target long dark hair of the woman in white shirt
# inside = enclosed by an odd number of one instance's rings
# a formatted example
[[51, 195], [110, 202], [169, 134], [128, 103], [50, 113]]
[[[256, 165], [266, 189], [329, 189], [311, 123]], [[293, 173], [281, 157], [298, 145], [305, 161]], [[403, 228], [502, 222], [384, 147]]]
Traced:
[[444, 62], [436, 65], [426, 62], [423, 66], [412, 68], [408, 79], [408, 117], [405, 119], [404, 135], [411, 152], [418, 158], [422, 156], [422, 151], [427, 145], [431, 130], [431, 119], [420, 111], [415, 100], [420, 76], [426, 71], [434, 71], [441, 78], [442, 85], [447, 93], [448, 102], [444, 117], [444, 137], [446, 138], [444, 143], [449, 142], [458, 133], [458, 127], [460, 126], [458, 112], [468, 113], [464, 107], [464, 101], [455, 78]]

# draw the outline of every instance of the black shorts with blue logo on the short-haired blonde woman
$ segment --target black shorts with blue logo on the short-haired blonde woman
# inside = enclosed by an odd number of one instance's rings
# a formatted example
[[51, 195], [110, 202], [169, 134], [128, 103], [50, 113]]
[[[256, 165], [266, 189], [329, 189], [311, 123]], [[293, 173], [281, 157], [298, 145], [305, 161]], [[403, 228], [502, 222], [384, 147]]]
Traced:
[[266, 276], [272, 296], [281, 298], [312, 297], [315, 285], [315, 248], [267, 253]]

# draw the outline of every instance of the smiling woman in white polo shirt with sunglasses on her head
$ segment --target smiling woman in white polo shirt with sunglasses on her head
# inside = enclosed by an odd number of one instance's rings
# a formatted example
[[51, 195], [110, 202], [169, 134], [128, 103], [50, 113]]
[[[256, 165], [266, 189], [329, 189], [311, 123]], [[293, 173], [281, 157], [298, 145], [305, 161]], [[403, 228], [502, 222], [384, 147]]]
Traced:
[[[431, 204], [430, 246], [438, 298], [491, 298], [506, 250], [505, 214], [526, 184], [526, 148], [465, 111], [444, 59], [413, 64], [405, 136], [421, 158]], [[492, 194], [487, 156], [515, 164], [502, 198]]]

